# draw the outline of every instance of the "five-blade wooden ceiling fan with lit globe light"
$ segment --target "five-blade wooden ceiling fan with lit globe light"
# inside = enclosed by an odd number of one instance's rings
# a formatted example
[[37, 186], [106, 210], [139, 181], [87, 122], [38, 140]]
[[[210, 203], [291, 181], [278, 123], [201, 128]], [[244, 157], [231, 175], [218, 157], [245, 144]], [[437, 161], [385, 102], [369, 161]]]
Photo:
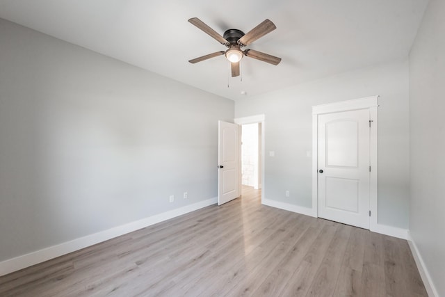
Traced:
[[194, 58], [188, 61], [192, 64], [207, 60], [209, 58], [215, 58], [217, 56], [225, 55], [227, 60], [229, 60], [229, 62], [231, 63], [232, 77], [238, 77], [238, 75], [240, 74], [239, 62], [241, 61], [243, 56], [254, 58], [259, 61], [264, 61], [273, 65], [278, 65], [281, 61], [281, 58], [271, 56], [269, 54], [264, 54], [261, 51], [255, 51], [254, 49], [242, 49], [243, 47], [250, 45], [258, 38], [261, 38], [267, 33], [270, 33], [271, 31], [277, 29], [275, 24], [273, 24], [273, 22], [270, 22], [269, 19], [265, 19], [264, 22], [261, 22], [261, 24], [254, 27], [254, 29], [250, 30], [246, 34], [238, 29], [229, 29], [224, 32], [223, 36], [221, 36], [215, 30], [211, 29], [209, 26], [207, 26], [207, 24], [204, 24], [204, 22], [202, 22], [197, 17], [188, 19], [188, 22], [197, 26], [198, 29], [201, 29], [205, 33], [209, 34], [212, 38], [220, 42], [220, 44], [227, 47], [226, 51], [216, 51], [215, 53], [201, 56], [199, 58]]

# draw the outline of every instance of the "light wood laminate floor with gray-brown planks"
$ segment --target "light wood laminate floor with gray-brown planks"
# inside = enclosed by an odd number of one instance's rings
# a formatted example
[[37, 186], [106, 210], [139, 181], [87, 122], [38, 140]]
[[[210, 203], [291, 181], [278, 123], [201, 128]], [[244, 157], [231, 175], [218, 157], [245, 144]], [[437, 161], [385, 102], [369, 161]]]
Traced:
[[407, 241], [260, 191], [0, 278], [0, 296], [427, 296]]

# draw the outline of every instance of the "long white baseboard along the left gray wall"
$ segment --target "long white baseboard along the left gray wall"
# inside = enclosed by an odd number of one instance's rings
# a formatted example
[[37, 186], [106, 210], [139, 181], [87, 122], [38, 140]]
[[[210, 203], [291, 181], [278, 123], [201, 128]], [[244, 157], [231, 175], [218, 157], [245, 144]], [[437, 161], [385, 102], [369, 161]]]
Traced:
[[142, 229], [143, 227], [147, 227], [149, 225], [160, 223], [170, 218], [175, 218], [177, 216], [187, 214], [197, 209], [202, 209], [203, 207], [216, 204], [217, 202], [218, 198], [211, 198], [208, 200], [204, 200], [202, 202], [197, 202], [195, 204], [187, 205], [185, 207], [180, 207], [178, 209], [166, 211], [162, 214], [156, 214], [155, 216], [150, 216], [148, 218], [136, 220], [134, 222], [125, 225], [113, 227], [111, 229], [97, 232], [95, 234], [83, 236], [79, 239], [74, 239], [72, 241], [60, 243], [56, 246], [50, 246], [49, 248], [44, 248], [42, 250], [30, 252], [29, 254], [21, 255], [13, 259], [8, 259], [6, 261], [0, 262], [0, 276], [47, 261], [49, 259], [54, 259], [56, 257], [66, 255], [70, 252], [74, 252], [76, 250], [80, 250], [81, 248], [92, 246], [96, 243], [100, 243], [108, 239], [113, 239], [117, 236], [121, 236], [123, 234], [127, 234], [129, 232]]

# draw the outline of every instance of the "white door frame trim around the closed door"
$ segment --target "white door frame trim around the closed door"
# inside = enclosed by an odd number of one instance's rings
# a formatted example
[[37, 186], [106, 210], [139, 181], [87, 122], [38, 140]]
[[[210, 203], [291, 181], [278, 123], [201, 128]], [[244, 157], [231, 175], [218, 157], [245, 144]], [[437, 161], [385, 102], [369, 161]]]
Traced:
[[378, 229], [378, 96], [312, 106], [312, 211], [318, 218], [318, 115], [357, 109], [369, 109], [371, 115], [369, 230], [374, 231]]

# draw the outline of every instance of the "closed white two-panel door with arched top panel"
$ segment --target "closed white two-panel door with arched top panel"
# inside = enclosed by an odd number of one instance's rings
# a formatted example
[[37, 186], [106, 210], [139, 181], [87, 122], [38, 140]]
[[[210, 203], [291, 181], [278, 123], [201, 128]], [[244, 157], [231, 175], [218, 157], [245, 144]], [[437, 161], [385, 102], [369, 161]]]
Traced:
[[369, 229], [369, 110], [318, 115], [318, 216]]

